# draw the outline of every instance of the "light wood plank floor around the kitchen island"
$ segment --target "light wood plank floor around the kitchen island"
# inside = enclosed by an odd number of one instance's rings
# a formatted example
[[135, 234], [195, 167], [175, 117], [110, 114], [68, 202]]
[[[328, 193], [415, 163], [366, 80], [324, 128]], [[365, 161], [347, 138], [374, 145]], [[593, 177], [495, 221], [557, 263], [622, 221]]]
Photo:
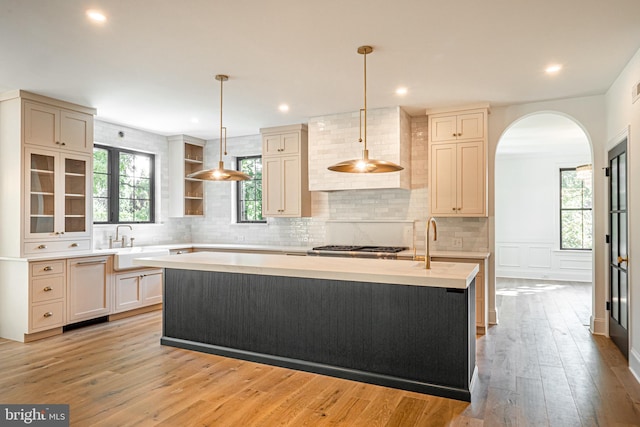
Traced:
[[160, 312], [0, 340], [0, 403], [68, 403], [74, 426], [640, 426], [640, 385], [585, 326], [588, 285], [497, 294], [471, 403], [163, 347]]

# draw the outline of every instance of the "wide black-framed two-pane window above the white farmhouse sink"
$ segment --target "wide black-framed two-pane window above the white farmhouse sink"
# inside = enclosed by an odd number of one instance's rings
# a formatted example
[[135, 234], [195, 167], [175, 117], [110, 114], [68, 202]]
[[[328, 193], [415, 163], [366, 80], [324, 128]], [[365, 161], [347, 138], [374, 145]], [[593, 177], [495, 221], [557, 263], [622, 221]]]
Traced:
[[155, 156], [121, 148], [93, 148], [93, 222], [154, 222]]

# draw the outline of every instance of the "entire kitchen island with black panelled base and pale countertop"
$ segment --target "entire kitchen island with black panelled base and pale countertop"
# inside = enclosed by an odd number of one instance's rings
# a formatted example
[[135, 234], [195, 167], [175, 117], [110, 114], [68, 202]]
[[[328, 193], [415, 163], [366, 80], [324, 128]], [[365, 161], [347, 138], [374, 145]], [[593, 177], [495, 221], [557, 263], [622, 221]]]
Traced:
[[477, 265], [190, 253], [162, 267], [162, 344], [469, 401]]

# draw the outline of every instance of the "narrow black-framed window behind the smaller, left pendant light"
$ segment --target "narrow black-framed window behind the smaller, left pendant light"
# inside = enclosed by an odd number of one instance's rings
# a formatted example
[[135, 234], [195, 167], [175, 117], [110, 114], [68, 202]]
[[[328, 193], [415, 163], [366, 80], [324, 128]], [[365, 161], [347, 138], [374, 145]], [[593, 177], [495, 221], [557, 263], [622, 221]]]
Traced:
[[262, 157], [238, 157], [238, 170], [251, 181], [238, 181], [238, 222], [267, 222], [262, 217]]

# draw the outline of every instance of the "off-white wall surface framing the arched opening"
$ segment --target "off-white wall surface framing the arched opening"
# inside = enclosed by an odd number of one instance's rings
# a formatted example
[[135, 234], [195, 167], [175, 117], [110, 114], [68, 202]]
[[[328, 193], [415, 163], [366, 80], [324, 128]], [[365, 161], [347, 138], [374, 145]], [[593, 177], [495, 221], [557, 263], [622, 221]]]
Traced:
[[489, 116], [489, 239], [493, 262], [489, 263], [489, 321], [498, 320], [495, 308], [495, 160], [498, 143], [505, 130], [518, 119], [537, 112], [559, 113], [571, 118], [580, 125], [592, 147], [594, 173], [594, 250], [593, 250], [593, 312], [591, 328], [595, 333], [606, 333], [605, 312], [605, 255], [604, 244], [605, 220], [603, 210], [606, 206], [604, 189], [605, 177], [598, 173], [605, 166], [603, 147], [607, 140], [605, 131], [605, 98], [590, 96], [583, 98], [561, 99], [555, 101], [535, 102], [504, 107], [495, 107]]

